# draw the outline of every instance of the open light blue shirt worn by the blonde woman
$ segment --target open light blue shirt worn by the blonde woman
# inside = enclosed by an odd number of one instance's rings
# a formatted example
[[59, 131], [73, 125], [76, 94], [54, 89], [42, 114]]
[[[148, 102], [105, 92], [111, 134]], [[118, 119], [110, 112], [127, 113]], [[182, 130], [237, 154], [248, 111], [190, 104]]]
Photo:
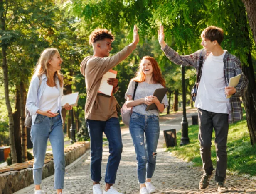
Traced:
[[[46, 74], [42, 74], [42, 83], [40, 85], [40, 80], [39, 77], [37, 75], [34, 75], [30, 81], [30, 87], [28, 89], [28, 93], [27, 93], [27, 102], [26, 102], [26, 107], [27, 110], [30, 112], [30, 114], [32, 115], [32, 125], [34, 125], [34, 121], [36, 120], [37, 117], [37, 110], [39, 109], [39, 102], [42, 103], [41, 97], [42, 94], [44, 93], [44, 89], [46, 86], [46, 81], [47, 81], [47, 77]], [[62, 106], [61, 106], [61, 97], [63, 94], [63, 87], [60, 87], [59, 85], [59, 79], [56, 76], [56, 81], [55, 83], [57, 83], [57, 88], [59, 90], [59, 114], [61, 115], [62, 118]], [[40, 85], [40, 87], [39, 87]], [[63, 118], [62, 118], [62, 123], [63, 123]]]

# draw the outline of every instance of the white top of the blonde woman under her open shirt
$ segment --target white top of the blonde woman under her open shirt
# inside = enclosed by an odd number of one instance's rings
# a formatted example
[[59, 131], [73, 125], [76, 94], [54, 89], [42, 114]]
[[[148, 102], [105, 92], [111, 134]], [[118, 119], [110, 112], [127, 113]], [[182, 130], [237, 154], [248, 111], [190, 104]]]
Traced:
[[42, 111], [51, 110], [53, 113], [59, 110], [59, 90], [56, 86], [50, 87], [46, 84], [39, 102], [39, 109]]

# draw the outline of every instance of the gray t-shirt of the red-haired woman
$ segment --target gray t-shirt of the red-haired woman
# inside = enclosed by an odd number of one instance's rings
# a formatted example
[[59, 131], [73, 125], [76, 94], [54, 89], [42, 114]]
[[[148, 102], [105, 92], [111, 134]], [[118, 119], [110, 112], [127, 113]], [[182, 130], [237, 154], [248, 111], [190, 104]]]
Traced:
[[[148, 84], [147, 82], [140, 82], [138, 83], [138, 87], [135, 93], [135, 97], [133, 100], [138, 100], [140, 98], [145, 98], [146, 96], [150, 96], [153, 95], [155, 89], [158, 88], [163, 88], [164, 86], [162, 86], [161, 84]], [[134, 92], [134, 88], [135, 88], [135, 81], [131, 81], [128, 89], [126, 91], [126, 95], [125, 98], [127, 99], [127, 96], [130, 95], [133, 97], [133, 92]], [[162, 100], [162, 104], [165, 105], [165, 108], [168, 106], [168, 100], [167, 100], [167, 96], [165, 95], [164, 99]], [[147, 105], [145, 103], [142, 103], [140, 105], [134, 106], [133, 107], [133, 111], [136, 113], [140, 113], [142, 115], [156, 115], [158, 116], [160, 111], [157, 109], [154, 110], [148, 110], [146, 111]]]

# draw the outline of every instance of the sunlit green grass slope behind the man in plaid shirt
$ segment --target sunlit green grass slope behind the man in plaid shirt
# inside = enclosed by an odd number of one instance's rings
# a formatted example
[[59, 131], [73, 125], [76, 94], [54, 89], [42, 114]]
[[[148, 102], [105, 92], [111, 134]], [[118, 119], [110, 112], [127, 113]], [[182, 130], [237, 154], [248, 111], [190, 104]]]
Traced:
[[[195, 166], [202, 166], [198, 141], [198, 125], [191, 125], [188, 129], [190, 144], [167, 148], [174, 156], [186, 161], [192, 161]], [[212, 135], [212, 162], [216, 167], [216, 152], [214, 145], [215, 133]], [[177, 145], [180, 144], [181, 132], [177, 133]], [[244, 114], [244, 120], [229, 125], [227, 144], [228, 170], [239, 174], [256, 175], [256, 146], [251, 146], [250, 135]]]

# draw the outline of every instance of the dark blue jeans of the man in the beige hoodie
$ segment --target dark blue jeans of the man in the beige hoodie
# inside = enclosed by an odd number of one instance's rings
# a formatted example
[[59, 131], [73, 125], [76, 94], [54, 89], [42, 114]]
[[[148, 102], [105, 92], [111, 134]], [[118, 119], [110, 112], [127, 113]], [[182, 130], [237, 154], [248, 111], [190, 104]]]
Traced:
[[105, 182], [114, 184], [123, 151], [121, 129], [118, 118], [110, 118], [107, 121], [86, 119], [86, 127], [88, 128], [91, 141], [91, 180], [94, 182], [101, 181], [102, 143], [104, 132], [108, 138], [110, 153], [106, 167]]

